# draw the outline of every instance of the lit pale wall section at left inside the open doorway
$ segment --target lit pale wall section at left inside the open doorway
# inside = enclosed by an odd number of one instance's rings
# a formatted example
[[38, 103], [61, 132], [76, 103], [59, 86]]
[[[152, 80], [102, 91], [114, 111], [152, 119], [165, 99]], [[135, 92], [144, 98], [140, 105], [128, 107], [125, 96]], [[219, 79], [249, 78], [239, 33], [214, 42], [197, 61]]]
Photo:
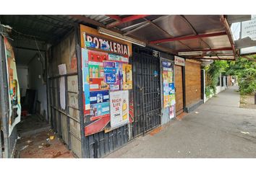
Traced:
[[17, 66], [17, 76], [19, 81], [20, 89], [22, 89], [22, 92], [20, 93], [21, 97], [24, 97], [27, 90], [27, 67], [24, 66]]

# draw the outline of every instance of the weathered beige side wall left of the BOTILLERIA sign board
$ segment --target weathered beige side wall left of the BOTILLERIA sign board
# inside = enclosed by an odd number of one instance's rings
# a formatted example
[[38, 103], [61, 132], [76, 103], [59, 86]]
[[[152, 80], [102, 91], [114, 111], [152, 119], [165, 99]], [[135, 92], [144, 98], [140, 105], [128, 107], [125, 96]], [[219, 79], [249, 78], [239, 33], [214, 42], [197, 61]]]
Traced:
[[75, 52], [75, 35], [71, 32], [64, 37], [60, 43], [51, 48], [51, 56], [48, 60], [48, 74], [51, 77], [59, 75], [60, 64], [66, 64], [67, 88], [65, 88], [67, 105], [61, 109], [59, 105], [59, 79], [52, 78], [50, 84], [51, 112], [56, 130], [64, 143], [76, 154], [82, 157], [81, 150], [81, 130], [80, 130], [80, 110], [78, 107], [78, 78], [77, 78], [77, 57]]

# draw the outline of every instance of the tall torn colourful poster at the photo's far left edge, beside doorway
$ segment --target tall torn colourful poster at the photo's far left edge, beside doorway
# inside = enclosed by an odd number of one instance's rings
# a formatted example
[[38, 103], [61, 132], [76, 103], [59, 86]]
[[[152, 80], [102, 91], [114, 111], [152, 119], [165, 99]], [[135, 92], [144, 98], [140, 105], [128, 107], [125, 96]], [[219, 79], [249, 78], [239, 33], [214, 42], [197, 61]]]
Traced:
[[20, 86], [17, 78], [16, 63], [12, 45], [4, 37], [5, 58], [7, 62], [7, 82], [9, 97], [9, 136], [17, 123], [20, 123], [21, 105], [20, 105]]

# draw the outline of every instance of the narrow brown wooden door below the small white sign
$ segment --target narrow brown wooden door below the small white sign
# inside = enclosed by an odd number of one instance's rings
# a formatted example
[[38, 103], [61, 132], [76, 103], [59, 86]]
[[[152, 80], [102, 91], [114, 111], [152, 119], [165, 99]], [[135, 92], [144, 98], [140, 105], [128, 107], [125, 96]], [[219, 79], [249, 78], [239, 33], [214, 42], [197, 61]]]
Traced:
[[182, 66], [175, 65], [176, 115], [183, 112]]

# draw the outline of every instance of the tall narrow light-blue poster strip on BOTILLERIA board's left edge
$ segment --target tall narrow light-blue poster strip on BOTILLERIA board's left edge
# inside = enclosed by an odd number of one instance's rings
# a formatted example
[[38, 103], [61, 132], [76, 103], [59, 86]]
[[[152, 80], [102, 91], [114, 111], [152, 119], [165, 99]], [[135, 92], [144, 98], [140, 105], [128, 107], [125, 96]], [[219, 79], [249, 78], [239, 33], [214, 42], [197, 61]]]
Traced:
[[84, 102], [84, 114], [90, 114], [90, 80], [89, 80], [89, 68], [88, 68], [88, 50], [82, 48], [82, 81], [83, 81], [83, 102]]

